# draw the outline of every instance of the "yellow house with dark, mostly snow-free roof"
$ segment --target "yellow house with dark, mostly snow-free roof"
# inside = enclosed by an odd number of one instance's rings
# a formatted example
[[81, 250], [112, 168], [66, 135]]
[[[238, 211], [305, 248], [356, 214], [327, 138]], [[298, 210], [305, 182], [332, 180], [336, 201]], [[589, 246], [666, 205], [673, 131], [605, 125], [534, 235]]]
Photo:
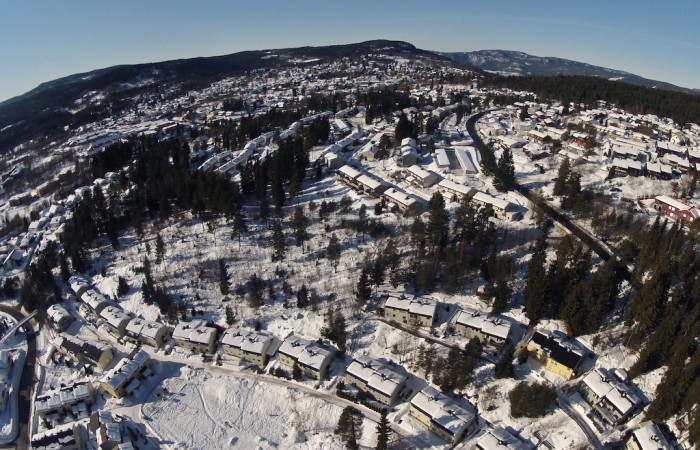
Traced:
[[586, 354], [585, 349], [563, 333], [548, 330], [536, 330], [527, 350], [545, 369], [567, 380], [577, 375]]

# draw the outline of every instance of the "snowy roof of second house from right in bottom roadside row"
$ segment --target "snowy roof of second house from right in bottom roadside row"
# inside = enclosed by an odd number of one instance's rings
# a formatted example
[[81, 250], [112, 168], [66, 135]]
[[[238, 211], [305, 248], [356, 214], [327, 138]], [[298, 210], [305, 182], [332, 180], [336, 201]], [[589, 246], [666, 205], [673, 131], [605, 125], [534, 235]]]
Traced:
[[440, 428], [455, 436], [474, 421], [474, 414], [457, 405], [442, 392], [426, 386], [411, 400], [411, 405], [430, 417]]

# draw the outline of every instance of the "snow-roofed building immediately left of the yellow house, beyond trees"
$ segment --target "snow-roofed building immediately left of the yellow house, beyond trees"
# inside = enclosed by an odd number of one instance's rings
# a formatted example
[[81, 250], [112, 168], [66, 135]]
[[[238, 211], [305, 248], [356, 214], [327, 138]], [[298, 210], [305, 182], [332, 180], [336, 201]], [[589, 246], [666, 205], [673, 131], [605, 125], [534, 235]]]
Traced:
[[484, 345], [500, 346], [508, 341], [510, 322], [474, 308], [458, 310], [450, 323], [452, 332], [466, 338], [477, 338]]

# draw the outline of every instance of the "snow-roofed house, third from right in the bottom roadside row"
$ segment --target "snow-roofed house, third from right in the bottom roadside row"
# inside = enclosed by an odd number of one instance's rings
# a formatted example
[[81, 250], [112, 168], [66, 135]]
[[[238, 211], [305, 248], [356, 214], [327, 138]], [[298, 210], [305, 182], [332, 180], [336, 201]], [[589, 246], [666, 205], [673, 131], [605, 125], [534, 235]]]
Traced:
[[376, 401], [391, 406], [406, 386], [407, 377], [367, 356], [358, 356], [345, 371], [345, 380]]

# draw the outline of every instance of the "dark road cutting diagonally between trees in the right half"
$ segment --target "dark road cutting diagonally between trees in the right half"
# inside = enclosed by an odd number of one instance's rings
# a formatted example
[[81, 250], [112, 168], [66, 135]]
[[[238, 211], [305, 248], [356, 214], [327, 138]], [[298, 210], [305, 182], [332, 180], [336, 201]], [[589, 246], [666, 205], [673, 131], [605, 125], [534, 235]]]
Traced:
[[[481, 117], [483, 117], [484, 114], [488, 112], [490, 111], [484, 111], [478, 114], [474, 114], [467, 120], [467, 132], [474, 141], [474, 146], [477, 149], [479, 149], [479, 151], [482, 153], [490, 152], [491, 150], [481, 139], [479, 133], [476, 132], [476, 122], [478, 122], [479, 119], [481, 119]], [[593, 250], [598, 256], [600, 256], [600, 258], [603, 261], [607, 261], [610, 258], [616, 257], [615, 253], [605, 243], [603, 243], [602, 241], [600, 241], [600, 239], [589, 233], [588, 230], [585, 230], [578, 226], [575, 222], [571, 220], [568, 214], [547, 203], [547, 201], [540, 197], [536, 192], [530, 190], [530, 188], [528, 188], [527, 186], [518, 184], [517, 181], [514, 183], [513, 188], [516, 191], [520, 192], [522, 195], [524, 195], [530, 202], [541, 208], [552, 220], [561, 224], [562, 227], [564, 227], [571, 234], [576, 236], [579, 240], [581, 240], [581, 242], [586, 244], [591, 250]], [[624, 264], [620, 264], [619, 267], [622, 276], [627, 281], [632, 283], [632, 285], [635, 288], [639, 289], [640, 286], [638, 286], [637, 283], [634, 282], [634, 278], [632, 277], [629, 268]]]

